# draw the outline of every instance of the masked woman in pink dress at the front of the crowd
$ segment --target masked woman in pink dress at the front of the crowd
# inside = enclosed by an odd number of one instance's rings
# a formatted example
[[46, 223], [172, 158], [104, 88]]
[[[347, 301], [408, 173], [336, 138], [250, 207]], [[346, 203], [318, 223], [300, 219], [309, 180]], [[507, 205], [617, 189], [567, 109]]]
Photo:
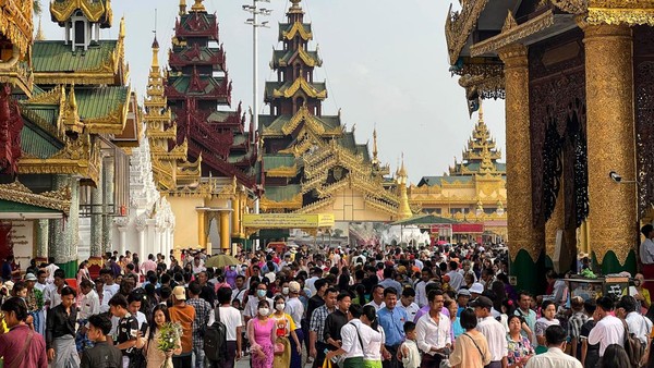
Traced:
[[269, 318], [270, 303], [259, 300], [255, 318], [247, 321], [247, 339], [251, 343], [252, 368], [272, 368], [276, 339], [275, 321]]

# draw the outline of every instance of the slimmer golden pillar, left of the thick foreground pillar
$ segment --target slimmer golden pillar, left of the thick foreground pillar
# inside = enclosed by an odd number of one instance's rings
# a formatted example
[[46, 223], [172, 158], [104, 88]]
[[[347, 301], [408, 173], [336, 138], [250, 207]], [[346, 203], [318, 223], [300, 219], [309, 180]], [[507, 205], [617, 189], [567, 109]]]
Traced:
[[[541, 287], [545, 229], [534, 228], [528, 49], [510, 45], [499, 50], [505, 63], [507, 126], [507, 228], [511, 274], [518, 289]], [[535, 271], [535, 272], [534, 272]]]

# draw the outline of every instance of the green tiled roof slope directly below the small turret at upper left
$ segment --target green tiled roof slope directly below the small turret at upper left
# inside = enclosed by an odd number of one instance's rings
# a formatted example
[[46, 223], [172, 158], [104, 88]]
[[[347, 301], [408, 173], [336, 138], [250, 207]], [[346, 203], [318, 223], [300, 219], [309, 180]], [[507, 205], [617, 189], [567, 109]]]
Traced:
[[72, 51], [64, 41], [34, 41], [32, 64], [35, 73], [89, 72], [99, 69], [104, 61], [111, 60], [117, 40], [93, 42], [88, 50]]

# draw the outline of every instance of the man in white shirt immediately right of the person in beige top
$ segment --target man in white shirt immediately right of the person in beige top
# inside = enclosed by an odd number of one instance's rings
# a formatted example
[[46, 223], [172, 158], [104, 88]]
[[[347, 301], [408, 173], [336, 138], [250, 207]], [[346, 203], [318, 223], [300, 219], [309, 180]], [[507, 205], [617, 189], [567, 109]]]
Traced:
[[480, 331], [488, 342], [491, 351], [491, 363], [486, 368], [501, 368], [507, 366], [507, 330], [491, 315], [493, 302], [485, 296], [480, 296], [470, 303], [477, 316], [477, 331]]

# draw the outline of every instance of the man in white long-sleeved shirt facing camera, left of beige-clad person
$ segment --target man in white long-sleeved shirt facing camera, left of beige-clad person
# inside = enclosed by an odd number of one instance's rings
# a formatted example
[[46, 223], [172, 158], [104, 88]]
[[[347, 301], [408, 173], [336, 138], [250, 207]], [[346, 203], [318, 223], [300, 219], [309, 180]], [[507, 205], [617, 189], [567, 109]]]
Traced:
[[423, 315], [415, 326], [417, 347], [424, 353], [422, 364], [425, 367], [438, 367], [443, 356], [450, 353], [451, 323], [443, 309], [443, 291], [433, 290], [428, 295], [429, 312]]

